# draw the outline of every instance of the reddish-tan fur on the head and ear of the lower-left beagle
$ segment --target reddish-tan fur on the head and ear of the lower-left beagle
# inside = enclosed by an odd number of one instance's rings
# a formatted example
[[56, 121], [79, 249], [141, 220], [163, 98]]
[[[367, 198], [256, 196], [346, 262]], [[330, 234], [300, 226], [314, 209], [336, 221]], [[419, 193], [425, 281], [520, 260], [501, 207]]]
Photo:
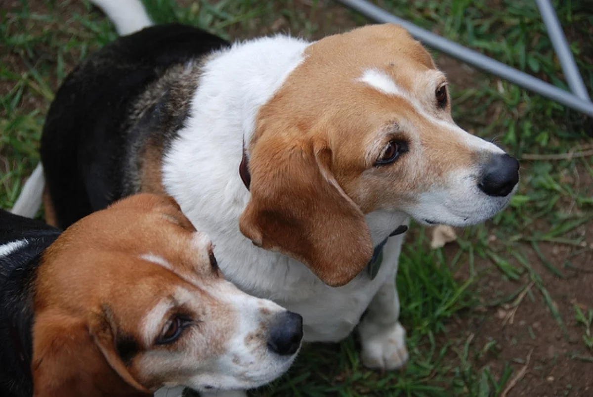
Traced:
[[[139, 325], [176, 288], [201, 302], [186, 310], [208, 312], [208, 324], [200, 329], [203, 357], [224, 351], [235, 313], [208, 293], [222, 278], [208, 253], [196, 249], [194, 232], [172, 199], [143, 194], [82, 219], [50, 246], [34, 298], [36, 397], [145, 395], [171, 380], [155, 377], [158, 369], [142, 366], [142, 357], [183, 344], [143, 344]], [[140, 259], [147, 250], [173, 269]], [[140, 344], [129, 364], [116, 351], [122, 337]]]

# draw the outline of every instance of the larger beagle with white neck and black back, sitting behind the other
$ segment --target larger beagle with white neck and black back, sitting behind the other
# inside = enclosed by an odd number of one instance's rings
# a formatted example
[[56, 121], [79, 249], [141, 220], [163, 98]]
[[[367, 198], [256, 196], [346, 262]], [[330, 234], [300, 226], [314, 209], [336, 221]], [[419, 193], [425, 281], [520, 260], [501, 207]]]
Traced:
[[[116, 23], [137, 3], [94, 2]], [[403, 366], [395, 278], [410, 218], [480, 223], [519, 179], [515, 158], [455, 124], [429, 53], [393, 24], [233, 45], [178, 24], [118, 30], [139, 31], [89, 56], [49, 110], [48, 221], [171, 195], [225, 277], [302, 315], [305, 341], [358, 325], [366, 366]]]

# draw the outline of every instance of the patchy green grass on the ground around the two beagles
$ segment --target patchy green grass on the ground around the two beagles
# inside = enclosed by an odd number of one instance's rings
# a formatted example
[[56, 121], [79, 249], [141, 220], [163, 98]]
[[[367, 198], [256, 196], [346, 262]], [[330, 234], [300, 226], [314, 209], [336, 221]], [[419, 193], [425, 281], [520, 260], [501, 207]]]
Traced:
[[[316, 0], [283, 2], [195, 1], [180, 7], [171, 0], [145, 0], [159, 22], [181, 21], [232, 39], [270, 33], [272, 26], [305, 37], [320, 37], [364, 20]], [[531, 0], [382, 0], [382, 7], [445, 37], [480, 50], [559, 87], [563, 82], [543, 23]], [[591, 3], [554, 1], [560, 20], [592, 93]], [[0, 206], [10, 208], [22, 181], [39, 160], [44, 115], [60, 81], [72, 67], [114, 40], [113, 27], [86, 2], [27, 2], [0, 11]], [[4, 56], [6, 55], [6, 56]], [[480, 364], [498, 342], [477, 345], [470, 336], [451, 335], [452, 320], [475, 307], [537, 300], [563, 334], [576, 316], [584, 345], [591, 348], [591, 312], [557, 310], [554, 288], [565, 282], [588, 248], [584, 228], [593, 218], [590, 120], [556, 103], [495, 77], [452, 79], [454, 116], [464, 128], [496, 138], [522, 158], [521, 188], [511, 206], [492, 221], [461, 231], [458, 250], [431, 251], [423, 230], [413, 228], [404, 246], [397, 286], [401, 322], [408, 332], [410, 363], [402, 371], [377, 373], [359, 361], [354, 336], [336, 344], [304, 348], [289, 373], [254, 392], [259, 396], [495, 396], [517, 373], [511, 363], [497, 369]], [[455, 84], [460, 82], [460, 84]], [[554, 154], [563, 157], [546, 160]], [[569, 247], [565, 261], [552, 261], [546, 249]], [[511, 285], [510, 294], [488, 299], [479, 281], [495, 277]], [[554, 280], [550, 282], [550, 280]], [[532, 284], [533, 283], [533, 284]], [[528, 288], [533, 285], [533, 288]], [[528, 289], [527, 289], [528, 288]], [[589, 305], [590, 307], [590, 305]], [[532, 331], [533, 332], [533, 331]], [[589, 355], [575, 360], [591, 361]], [[515, 369], [514, 369], [515, 368]]]

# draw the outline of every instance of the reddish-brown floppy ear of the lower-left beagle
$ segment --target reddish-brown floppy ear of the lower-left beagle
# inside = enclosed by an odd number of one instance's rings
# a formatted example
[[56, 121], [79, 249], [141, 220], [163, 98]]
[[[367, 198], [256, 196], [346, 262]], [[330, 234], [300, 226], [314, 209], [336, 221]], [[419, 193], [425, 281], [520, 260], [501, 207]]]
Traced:
[[101, 396], [98, 385], [151, 393], [127, 371], [112, 339], [102, 329], [96, 335], [89, 331], [88, 323], [61, 313], [36, 316], [31, 363], [33, 396]]

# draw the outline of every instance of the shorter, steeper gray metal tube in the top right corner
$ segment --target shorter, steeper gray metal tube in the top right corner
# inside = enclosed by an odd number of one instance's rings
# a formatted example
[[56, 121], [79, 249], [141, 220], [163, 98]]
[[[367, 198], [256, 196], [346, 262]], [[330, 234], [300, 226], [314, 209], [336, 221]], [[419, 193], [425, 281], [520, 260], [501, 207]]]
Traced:
[[581, 78], [579, 68], [576, 66], [575, 58], [572, 56], [572, 51], [570, 51], [554, 7], [550, 4], [550, 0], [535, 0], [535, 2], [540, 9], [541, 19], [546, 24], [548, 36], [550, 36], [554, 50], [556, 50], [556, 55], [558, 56], [560, 65], [562, 65], [562, 70], [564, 71], [570, 91], [579, 98], [589, 101], [589, 94], [587, 93], [585, 83]]

